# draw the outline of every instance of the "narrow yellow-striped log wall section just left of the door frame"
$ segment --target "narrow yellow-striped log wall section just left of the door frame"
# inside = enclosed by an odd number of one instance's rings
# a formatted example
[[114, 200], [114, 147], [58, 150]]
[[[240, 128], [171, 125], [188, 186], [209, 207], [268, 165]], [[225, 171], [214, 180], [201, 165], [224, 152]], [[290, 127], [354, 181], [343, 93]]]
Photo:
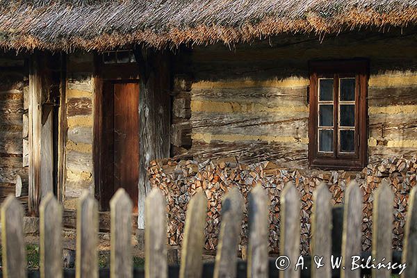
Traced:
[[65, 208], [76, 208], [83, 189], [94, 194], [92, 164], [94, 55], [67, 58], [67, 140], [65, 146]]

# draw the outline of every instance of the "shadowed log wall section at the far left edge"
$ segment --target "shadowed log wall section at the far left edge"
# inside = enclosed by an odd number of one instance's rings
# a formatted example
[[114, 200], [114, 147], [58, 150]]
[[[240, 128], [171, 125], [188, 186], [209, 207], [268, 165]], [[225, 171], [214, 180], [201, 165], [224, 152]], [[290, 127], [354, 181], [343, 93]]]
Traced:
[[28, 68], [24, 54], [0, 55], [0, 199], [28, 193]]

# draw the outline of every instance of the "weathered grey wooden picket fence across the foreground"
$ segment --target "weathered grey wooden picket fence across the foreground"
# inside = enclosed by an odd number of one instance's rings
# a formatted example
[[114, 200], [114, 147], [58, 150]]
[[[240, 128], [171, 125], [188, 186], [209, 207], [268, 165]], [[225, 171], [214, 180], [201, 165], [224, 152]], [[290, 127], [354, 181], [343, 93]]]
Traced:
[[[417, 277], [417, 188], [411, 190], [405, 229], [402, 262], [407, 268], [402, 277]], [[324, 256], [329, 259], [332, 243], [335, 241], [332, 196], [325, 183], [316, 188], [311, 220], [311, 256]], [[197, 192], [186, 212], [185, 233], [181, 250], [181, 264], [167, 265], [167, 212], [165, 197], [158, 189], [152, 190], [145, 204], [145, 270], [133, 270], [131, 257], [131, 199], [123, 189], [111, 199], [111, 268], [106, 275], [98, 269], [97, 234], [98, 206], [90, 193], [83, 193], [79, 200], [76, 223], [76, 270], [72, 277], [96, 278], [110, 277], [360, 277], [361, 270], [350, 270], [345, 258], [361, 254], [362, 193], [354, 181], [347, 186], [343, 208], [343, 227], [341, 228], [340, 270], [331, 269], [329, 263], [321, 268], [309, 264], [308, 270], [295, 271], [294, 264], [300, 256], [300, 196], [293, 185], [287, 183], [281, 195], [281, 255], [288, 256], [291, 267], [277, 270], [281, 264], [268, 257], [268, 197], [261, 186], [252, 189], [248, 202], [249, 245], [247, 262], [238, 261], [237, 252], [240, 229], [243, 220], [244, 199], [237, 188], [229, 190], [222, 200], [222, 221], [215, 263], [207, 275], [202, 261], [204, 248], [204, 226], [207, 200], [203, 191]], [[385, 258], [392, 261], [391, 248], [393, 228], [393, 193], [383, 181], [374, 196], [373, 211], [373, 250], [377, 261]], [[40, 277], [70, 277], [62, 267], [62, 216], [63, 209], [52, 194], [47, 195], [40, 204]], [[336, 221], [337, 222], [337, 221]], [[10, 196], [1, 206], [3, 277], [27, 277], [23, 234], [23, 209], [15, 197]], [[285, 263], [285, 262], [284, 262]], [[272, 265], [272, 268], [271, 268]], [[282, 265], [280, 265], [282, 266]], [[175, 270], [177, 269], [177, 273]], [[70, 273], [70, 275], [69, 275]], [[307, 273], [307, 275], [306, 275]], [[391, 270], [373, 269], [373, 277], [390, 277]], [[29, 275], [30, 276], [30, 275]], [[39, 276], [39, 275], [38, 275]]]

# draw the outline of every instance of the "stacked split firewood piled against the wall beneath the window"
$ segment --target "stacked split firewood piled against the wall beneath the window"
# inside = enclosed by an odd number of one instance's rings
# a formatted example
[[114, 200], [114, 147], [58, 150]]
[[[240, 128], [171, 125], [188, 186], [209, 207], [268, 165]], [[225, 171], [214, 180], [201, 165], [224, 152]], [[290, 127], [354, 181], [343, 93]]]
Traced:
[[[186, 207], [197, 188], [207, 197], [206, 249], [215, 250], [218, 243], [222, 196], [236, 186], [247, 202], [250, 190], [261, 184], [270, 199], [270, 252], [279, 252], [279, 203], [281, 190], [293, 181], [300, 191], [302, 209], [302, 254], [309, 253], [311, 238], [311, 210], [313, 190], [322, 181], [329, 185], [333, 204], [343, 202], [347, 184], [356, 180], [363, 190], [363, 250], [369, 250], [372, 237], [373, 191], [382, 179], [389, 179], [395, 193], [395, 227], [393, 245], [400, 248], [404, 232], [404, 219], [410, 189], [416, 185], [416, 157], [386, 158], [381, 163], [370, 164], [362, 172], [284, 170], [273, 162], [244, 165], [234, 158], [218, 161], [153, 161], [148, 169], [152, 187], [163, 190], [167, 197], [167, 236], [171, 245], [181, 245], [186, 218]], [[247, 212], [244, 212], [241, 246], [247, 244]]]

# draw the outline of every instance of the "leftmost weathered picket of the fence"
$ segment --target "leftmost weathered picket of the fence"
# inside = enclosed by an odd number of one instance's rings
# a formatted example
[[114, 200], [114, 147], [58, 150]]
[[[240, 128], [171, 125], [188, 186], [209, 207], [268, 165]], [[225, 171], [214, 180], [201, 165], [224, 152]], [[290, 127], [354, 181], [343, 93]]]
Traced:
[[1, 205], [1, 246], [3, 277], [26, 277], [23, 208], [13, 195]]

